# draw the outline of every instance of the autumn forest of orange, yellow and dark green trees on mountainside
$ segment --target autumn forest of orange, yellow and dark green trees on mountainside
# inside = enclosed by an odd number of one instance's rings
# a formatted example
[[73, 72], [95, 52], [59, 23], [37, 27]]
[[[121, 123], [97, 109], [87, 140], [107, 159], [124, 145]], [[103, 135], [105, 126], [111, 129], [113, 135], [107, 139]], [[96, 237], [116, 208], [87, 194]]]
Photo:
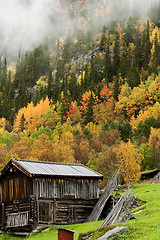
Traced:
[[102, 173], [102, 186], [120, 166], [126, 184], [159, 168], [159, 12], [51, 37], [16, 61], [2, 54], [0, 168], [13, 157], [76, 162]]

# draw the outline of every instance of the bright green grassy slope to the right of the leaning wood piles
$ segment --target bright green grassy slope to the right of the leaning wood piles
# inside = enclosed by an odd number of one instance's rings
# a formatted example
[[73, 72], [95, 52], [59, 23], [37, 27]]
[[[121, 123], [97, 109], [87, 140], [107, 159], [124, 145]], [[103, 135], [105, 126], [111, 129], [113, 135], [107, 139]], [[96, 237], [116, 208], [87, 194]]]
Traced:
[[133, 189], [137, 198], [145, 201], [146, 204], [137, 208], [136, 211], [142, 210], [135, 214], [138, 219], [131, 220], [125, 225], [130, 230], [116, 239], [143, 239], [159, 240], [160, 239], [160, 183], [137, 185]]

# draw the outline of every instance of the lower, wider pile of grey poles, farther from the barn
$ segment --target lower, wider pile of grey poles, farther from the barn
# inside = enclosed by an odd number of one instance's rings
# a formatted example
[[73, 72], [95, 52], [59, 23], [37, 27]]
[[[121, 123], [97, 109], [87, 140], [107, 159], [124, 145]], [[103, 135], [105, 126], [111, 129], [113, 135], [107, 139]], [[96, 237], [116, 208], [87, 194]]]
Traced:
[[113, 225], [120, 222], [126, 222], [131, 217], [133, 217], [129, 210], [131, 209], [134, 201], [135, 196], [131, 192], [131, 190], [127, 190], [123, 196], [119, 199], [119, 201], [116, 203], [116, 205], [112, 208], [110, 213], [107, 215], [103, 223], [101, 224], [101, 227], [106, 225]]

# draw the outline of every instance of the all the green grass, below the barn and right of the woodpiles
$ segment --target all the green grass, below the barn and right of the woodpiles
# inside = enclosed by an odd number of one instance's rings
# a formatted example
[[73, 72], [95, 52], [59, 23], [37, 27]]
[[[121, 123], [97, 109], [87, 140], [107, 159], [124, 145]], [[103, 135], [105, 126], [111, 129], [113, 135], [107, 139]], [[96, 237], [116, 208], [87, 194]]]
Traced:
[[[160, 183], [158, 184], [146, 184], [136, 185], [133, 189], [134, 194], [137, 197], [145, 201], [146, 204], [140, 206], [134, 212], [142, 210], [135, 217], [138, 219], [131, 220], [125, 225], [129, 226], [127, 231], [122, 236], [116, 238], [119, 239], [143, 239], [143, 240], [159, 240], [160, 239]], [[74, 240], [77, 240], [79, 233], [86, 233], [91, 230], [98, 229], [101, 225], [101, 221], [93, 223], [76, 224], [69, 226], [61, 226], [76, 232]], [[124, 225], [124, 224], [123, 224]], [[8, 235], [0, 236], [0, 240], [57, 240], [57, 228], [58, 226], [51, 227], [51, 230], [35, 234], [27, 238], [17, 238]], [[102, 233], [96, 233], [90, 240], [97, 239]]]

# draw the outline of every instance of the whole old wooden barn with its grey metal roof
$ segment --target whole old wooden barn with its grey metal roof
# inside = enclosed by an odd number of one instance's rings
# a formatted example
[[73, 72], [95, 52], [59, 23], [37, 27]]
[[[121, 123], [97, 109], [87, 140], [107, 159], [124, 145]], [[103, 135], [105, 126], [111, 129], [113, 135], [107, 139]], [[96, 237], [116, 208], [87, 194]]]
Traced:
[[1, 228], [84, 222], [102, 178], [80, 164], [12, 159], [0, 176]]

